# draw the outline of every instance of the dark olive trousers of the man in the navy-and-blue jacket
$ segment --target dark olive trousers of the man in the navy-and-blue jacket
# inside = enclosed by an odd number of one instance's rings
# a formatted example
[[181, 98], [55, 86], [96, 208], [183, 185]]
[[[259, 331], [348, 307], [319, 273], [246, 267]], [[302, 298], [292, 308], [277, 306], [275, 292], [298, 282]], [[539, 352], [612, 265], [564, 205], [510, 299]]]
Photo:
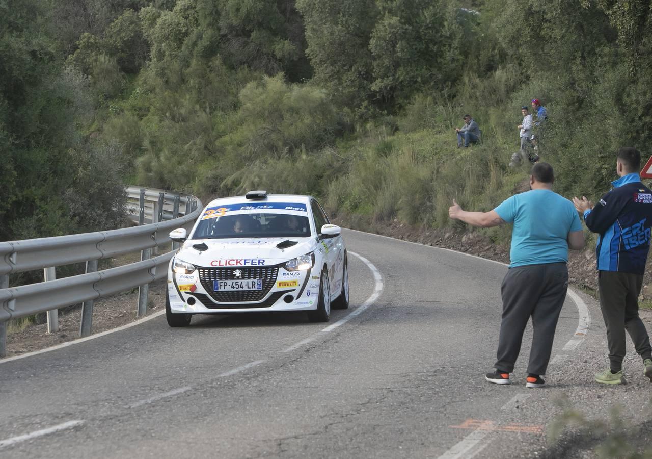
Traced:
[[652, 358], [649, 335], [645, 324], [638, 317], [638, 294], [642, 285], [642, 274], [598, 272], [600, 309], [607, 328], [611, 369], [615, 372], [623, 369], [623, 358], [627, 351], [625, 330], [632, 338], [636, 353], [644, 359]]

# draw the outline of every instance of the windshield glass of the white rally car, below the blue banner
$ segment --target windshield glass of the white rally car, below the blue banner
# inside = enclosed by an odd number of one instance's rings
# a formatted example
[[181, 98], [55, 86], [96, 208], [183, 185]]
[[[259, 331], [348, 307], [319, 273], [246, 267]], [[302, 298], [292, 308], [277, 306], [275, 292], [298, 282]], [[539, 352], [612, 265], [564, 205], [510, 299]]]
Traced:
[[305, 238], [310, 236], [307, 214], [269, 212], [221, 216], [204, 214], [192, 239]]

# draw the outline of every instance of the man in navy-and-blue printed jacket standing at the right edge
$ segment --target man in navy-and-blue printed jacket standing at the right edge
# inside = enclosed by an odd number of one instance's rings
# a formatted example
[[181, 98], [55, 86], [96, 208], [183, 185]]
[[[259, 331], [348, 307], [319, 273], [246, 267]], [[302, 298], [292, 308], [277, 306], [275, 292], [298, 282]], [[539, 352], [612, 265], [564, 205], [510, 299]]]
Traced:
[[584, 214], [589, 230], [600, 234], [595, 249], [598, 259], [600, 309], [607, 329], [611, 368], [595, 375], [602, 384], [625, 382], [625, 330], [643, 358], [644, 375], [652, 382], [652, 347], [643, 321], [638, 317], [638, 294], [643, 285], [645, 261], [652, 227], [652, 191], [641, 183], [641, 155], [636, 148], [617, 153], [614, 189], [595, 206], [584, 196], [573, 198]]

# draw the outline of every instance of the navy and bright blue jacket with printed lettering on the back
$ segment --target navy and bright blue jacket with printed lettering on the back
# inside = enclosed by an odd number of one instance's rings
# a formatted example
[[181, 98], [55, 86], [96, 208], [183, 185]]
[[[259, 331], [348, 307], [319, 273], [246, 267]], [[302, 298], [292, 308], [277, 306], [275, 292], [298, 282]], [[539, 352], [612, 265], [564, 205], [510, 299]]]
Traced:
[[652, 191], [638, 174], [612, 182], [614, 189], [584, 212], [589, 230], [600, 234], [598, 270], [644, 274], [652, 227]]

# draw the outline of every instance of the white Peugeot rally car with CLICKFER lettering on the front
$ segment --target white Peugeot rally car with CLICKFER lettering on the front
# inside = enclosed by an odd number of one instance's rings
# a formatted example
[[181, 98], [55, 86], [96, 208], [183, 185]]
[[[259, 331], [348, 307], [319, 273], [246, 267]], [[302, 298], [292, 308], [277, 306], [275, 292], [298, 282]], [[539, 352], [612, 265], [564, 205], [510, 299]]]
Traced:
[[168, 270], [166, 317], [187, 326], [192, 314], [308, 311], [329, 320], [331, 306], [349, 307], [342, 229], [310, 196], [220, 198], [206, 206]]

